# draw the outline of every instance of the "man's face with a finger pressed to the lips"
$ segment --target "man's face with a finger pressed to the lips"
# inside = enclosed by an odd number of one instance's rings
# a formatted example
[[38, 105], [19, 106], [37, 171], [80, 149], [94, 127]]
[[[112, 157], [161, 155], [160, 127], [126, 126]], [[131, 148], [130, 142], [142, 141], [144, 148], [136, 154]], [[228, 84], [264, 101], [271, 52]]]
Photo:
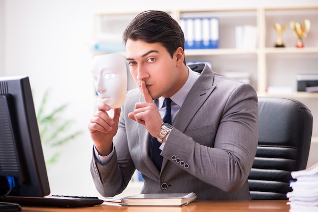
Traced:
[[140, 88], [141, 81], [145, 81], [152, 99], [170, 97], [180, 89], [177, 58], [175, 55], [171, 58], [161, 43], [129, 39], [126, 42], [126, 60], [136, 84]]

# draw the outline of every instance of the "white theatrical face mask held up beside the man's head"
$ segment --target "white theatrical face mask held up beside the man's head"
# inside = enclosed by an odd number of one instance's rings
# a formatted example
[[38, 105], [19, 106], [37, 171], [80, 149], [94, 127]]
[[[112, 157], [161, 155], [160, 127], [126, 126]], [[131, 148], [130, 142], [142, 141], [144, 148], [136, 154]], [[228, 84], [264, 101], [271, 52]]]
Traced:
[[111, 109], [120, 108], [127, 91], [127, 66], [125, 58], [117, 53], [94, 56], [91, 74], [102, 102]]

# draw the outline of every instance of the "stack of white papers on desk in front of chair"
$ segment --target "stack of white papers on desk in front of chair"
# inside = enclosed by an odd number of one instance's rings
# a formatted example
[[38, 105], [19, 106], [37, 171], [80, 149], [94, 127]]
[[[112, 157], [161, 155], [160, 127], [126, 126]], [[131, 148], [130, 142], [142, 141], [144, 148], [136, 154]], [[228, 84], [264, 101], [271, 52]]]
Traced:
[[293, 191], [287, 193], [290, 211], [318, 211], [318, 163], [310, 168], [292, 171]]

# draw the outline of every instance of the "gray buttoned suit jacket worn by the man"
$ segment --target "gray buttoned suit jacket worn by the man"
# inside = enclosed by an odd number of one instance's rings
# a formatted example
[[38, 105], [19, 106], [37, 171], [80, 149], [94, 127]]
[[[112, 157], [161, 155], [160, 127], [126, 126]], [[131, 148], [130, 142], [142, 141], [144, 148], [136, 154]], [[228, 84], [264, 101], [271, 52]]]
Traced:
[[214, 73], [208, 65], [190, 67], [201, 76], [174, 121], [161, 172], [149, 157], [150, 134], [128, 118], [139, 89], [129, 91], [107, 165], [94, 156], [91, 173], [103, 196], [121, 193], [135, 169], [142, 173], [142, 193], [195, 192], [200, 200], [250, 199], [247, 176], [258, 144], [257, 94], [251, 85]]

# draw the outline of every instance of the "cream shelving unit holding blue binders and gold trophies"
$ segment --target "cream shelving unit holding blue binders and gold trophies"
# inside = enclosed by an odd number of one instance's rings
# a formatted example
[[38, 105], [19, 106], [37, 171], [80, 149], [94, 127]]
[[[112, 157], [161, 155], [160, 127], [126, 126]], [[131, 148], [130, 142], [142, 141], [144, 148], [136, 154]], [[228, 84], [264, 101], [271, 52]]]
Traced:
[[[141, 11], [130, 14], [97, 13], [115, 21], [116, 30], [123, 31], [127, 24], [119, 27], [118, 23], [129, 23]], [[212, 69], [218, 73], [249, 72], [250, 83], [260, 96], [284, 96], [299, 99], [307, 104], [314, 116], [312, 142], [318, 141], [318, 93], [297, 92], [297, 74], [318, 74], [318, 6], [317, 7], [280, 7], [280, 8], [202, 8], [200, 10], [167, 11], [176, 20], [187, 17], [218, 17], [219, 48], [218, 49], [186, 49], [186, 60], [209, 60]], [[125, 19], [125, 21], [123, 21]], [[311, 22], [304, 48], [296, 48], [297, 38], [289, 26], [290, 21]], [[100, 19], [101, 20], [101, 19]], [[107, 22], [107, 21], [106, 21]], [[107, 22], [110, 23], [111, 21]], [[274, 24], [285, 25], [282, 41], [285, 48], [274, 48], [276, 31]], [[255, 49], [236, 49], [235, 26], [253, 25], [257, 27], [258, 39]], [[101, 30], [96, 30], [101, 32]], [[107, 31], [105, 31], [107, 32]], [[109, 31], [107, 32], [109, 36]], [[102, 33], [103, 34], [103, 33]], [[96, 35], [101, 37], [102, 34]], [[118, 35], [121, 39], [121, 33]], [[105, 37], [105, 39], [107, 39]], [[124, 53], [123, 53], [124, 54]], [[269, 86], [290, 87], [291, 93], [268, 93]]]

